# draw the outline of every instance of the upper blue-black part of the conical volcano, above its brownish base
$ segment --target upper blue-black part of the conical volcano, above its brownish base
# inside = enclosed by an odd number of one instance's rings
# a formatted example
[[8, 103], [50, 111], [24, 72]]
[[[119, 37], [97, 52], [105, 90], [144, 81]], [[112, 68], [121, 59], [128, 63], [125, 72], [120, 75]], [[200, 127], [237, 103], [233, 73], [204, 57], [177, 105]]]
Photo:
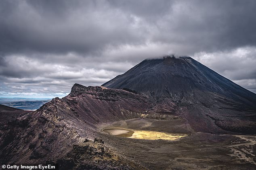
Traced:
[[[191, 57], [145, 59], [102, 86], [128, 88], [157, 98], [181, 100], [197, 93], [219, 94], [254, 107], [256, 94], [235, 84]], [[194, 99], [196, 99], [194, 97]]]

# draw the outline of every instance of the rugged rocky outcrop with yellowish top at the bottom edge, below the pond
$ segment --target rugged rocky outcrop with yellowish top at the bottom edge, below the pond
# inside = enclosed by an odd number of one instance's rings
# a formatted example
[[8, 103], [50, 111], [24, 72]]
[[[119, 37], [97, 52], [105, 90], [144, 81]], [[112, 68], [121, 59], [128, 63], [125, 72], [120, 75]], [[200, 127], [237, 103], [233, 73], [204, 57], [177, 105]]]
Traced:
[[60, 160], [57, 160], [62, 170], [133, 170], [135, 164], [127, 161], [109, 150], [102, 139], [94, 139], [94, 142], [86, 141], [73, 145], [72, 150]]

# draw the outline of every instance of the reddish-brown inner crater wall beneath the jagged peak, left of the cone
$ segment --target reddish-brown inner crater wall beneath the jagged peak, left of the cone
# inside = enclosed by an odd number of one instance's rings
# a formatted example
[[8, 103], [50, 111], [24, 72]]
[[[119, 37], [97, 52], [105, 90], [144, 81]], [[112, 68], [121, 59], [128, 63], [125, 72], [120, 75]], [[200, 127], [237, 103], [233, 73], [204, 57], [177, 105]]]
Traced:
[[151, 98], [144, 94], [80, 84], [74, 84], [70, 94], [62, 100], [72, 106], [70, 110], [74, 115], [92, 126], [101, 122], [138, 118], [153, 107]]

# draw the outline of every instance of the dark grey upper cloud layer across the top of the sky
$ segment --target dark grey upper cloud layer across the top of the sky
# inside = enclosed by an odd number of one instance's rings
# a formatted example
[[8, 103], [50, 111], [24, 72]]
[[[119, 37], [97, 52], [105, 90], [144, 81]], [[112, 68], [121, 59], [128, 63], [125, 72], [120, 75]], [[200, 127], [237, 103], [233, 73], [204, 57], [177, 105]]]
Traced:
[[6, 0], [1, 4], [4, 52], [95, 53], [152, 41], [191, 54], [256, 45], [254, 0]]

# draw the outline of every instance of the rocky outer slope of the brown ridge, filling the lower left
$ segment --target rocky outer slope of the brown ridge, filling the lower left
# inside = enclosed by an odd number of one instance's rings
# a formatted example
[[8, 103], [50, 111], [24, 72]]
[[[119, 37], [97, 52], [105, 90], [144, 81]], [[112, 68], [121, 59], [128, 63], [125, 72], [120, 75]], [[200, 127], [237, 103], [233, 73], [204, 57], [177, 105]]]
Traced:
[[[10, 121], [0, 129], [0, 160], [4, 163], [59, 164], [61, 169], [134, 169], [130, 160], [118, 156], [97, 132], [65, 100], [55, 98], [38, 111]], [[80, 113], [82, 114], [82, 113]], [[82, 129], [82, 133], [78, 129]]]

